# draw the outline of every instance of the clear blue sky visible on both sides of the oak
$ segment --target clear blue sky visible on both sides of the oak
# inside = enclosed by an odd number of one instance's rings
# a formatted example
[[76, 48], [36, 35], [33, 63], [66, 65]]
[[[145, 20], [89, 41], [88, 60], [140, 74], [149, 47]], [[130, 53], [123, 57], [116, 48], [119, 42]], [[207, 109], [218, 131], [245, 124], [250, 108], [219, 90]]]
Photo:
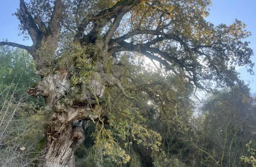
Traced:
[[[28, 2], [28, 0], [25, 0]], [[22, 36], [18, 36], [18, 20], [11, 14], [19, 7], [19, 0], [0, 0], [0, 39], [8, 39], [24, 45], [31, 45], [31, 40], [23, 41]], [[214, 25], [220, 23], [231, 24], [236, 18], [247, 25], [247, 30], [252, 36], [247, 40], [251, 41], [250, 47], [256, 54], [256, 0], [212, 0], [213, 6], [210, 8], [210, 16], [206, 18]], [[253, 61], [256, 63], [256, 56]], [[237, 69], [241, 77], [248, 83], [253, 92], [256, 92], [256, 75], [247, 73], [246, 67]], [[256, 67], [254, 67], [256, 73]]]

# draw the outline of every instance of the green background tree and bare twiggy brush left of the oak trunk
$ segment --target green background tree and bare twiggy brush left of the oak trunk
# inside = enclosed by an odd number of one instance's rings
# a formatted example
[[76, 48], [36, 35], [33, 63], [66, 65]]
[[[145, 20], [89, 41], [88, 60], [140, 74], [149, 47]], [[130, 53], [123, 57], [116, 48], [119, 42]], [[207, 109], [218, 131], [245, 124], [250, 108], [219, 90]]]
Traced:
[[29, 166], [36, 162], [43, 137], [41, 98], [27, 95], [39, 77], [29, 53], [0, 46], [0, 166]]

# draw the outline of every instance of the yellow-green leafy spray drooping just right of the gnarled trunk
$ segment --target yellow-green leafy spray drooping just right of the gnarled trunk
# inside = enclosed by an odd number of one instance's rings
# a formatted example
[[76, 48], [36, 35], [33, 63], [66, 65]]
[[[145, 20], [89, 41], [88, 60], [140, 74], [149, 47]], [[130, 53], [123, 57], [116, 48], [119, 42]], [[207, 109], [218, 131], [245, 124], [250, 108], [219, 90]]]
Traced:
[[[136, 144], [143, 144], [145, 147], [151, 148], [158, 152], [161, 136], [145, 125], [146, 119], [143, 118], [138, 109], [129, 107], [127, 109], [117, 108], [116, 113], [112, 112], [109, 116], [109, 125], [113, 128], [115, 135], [123, 141], [127, 141], [124, 145], [129, 145], [128, 138], [132, 139]], [[149, 142], [150, 141], [150, 142]]]

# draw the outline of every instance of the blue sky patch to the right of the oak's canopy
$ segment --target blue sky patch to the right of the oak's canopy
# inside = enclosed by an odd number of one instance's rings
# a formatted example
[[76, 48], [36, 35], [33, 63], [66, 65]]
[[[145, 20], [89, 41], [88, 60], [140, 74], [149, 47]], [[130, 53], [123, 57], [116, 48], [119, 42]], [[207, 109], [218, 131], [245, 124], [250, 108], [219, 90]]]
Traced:
[[[250, 47], [255, 54], [252, 60], [256, 64], [256, 0], [212, 0], [212, 5], [210, 16], [206, 20], [214, 25], [232, 24], [235, 19], [241, 20], [247, 25], [246, 30], [250, 31], [252, 36], [246, 40], [251, 42]], [[256, 74], [256, 67], [253, 69]], [[256, 75], [250, 75], [246, 67], [239, 68], [238, 72], [241, 73], [241, 77], [246, 83], [251, 82], [250, 87], [253, 92], [256, 92]]]

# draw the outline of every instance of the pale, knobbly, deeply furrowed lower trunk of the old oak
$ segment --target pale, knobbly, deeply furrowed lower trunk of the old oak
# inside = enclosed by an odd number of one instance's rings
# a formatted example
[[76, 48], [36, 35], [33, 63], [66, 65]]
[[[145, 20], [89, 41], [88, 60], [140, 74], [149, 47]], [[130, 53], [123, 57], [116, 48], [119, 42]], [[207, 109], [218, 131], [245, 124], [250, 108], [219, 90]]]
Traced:
[[69, 74], [60, 68], [28, 89], [31, 96], [41, 95], [46, 101], [44, 129], [47, 144], [39, 166], [74, 166], [74, 152], [84, 141], [84, 129], [87, 127], [84, 121], [94, 121], [105, 115], [105, 111], [95, 105], [96, 99], [102, 98], [106, 86], [117, 86], [124, 93], [115, 60], [112, 61], [111, 70], [114, 71], [111, 73], [104, 72], [104, 64], [104, 58], [100, 57], [95, 63], [95, 77], [91, 76], [87, 83], [81, 81], [72, 85]]

